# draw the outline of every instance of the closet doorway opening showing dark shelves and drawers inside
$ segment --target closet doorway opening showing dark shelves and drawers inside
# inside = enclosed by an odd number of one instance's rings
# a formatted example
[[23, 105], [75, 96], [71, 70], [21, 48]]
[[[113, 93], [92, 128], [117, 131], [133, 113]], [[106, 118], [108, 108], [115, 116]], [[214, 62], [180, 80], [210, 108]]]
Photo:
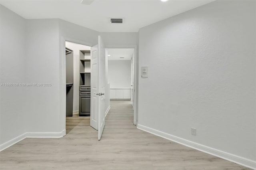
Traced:
[[[66, 134], [84, 118], [90, 126], [90, 46], [65, 42]], [[81, 119], [80, 119], [81, 118]]]

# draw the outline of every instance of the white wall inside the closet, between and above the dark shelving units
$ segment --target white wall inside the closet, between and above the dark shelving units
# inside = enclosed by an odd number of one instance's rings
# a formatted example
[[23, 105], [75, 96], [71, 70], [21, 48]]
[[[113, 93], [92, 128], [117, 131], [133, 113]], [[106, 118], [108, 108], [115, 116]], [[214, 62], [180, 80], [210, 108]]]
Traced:
[[79, 111], [79, 85], [80, 85], [80, 50], [90, 50], [91, 47], [72, 42], [66, 42], [66, 47], [73, 50], [74, 84], [73, 84], [73, 113]]

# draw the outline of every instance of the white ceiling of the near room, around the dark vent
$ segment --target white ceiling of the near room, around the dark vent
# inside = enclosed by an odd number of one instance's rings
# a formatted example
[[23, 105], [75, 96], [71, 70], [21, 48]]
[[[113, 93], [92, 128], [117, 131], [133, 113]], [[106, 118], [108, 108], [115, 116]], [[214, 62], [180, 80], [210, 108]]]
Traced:
[[[90, 1], [90, 0], [88, 0]], [[202, 6], [213, 0], [1, 0], [26, 19], [60, 18], [98, 32], [138, 32], [144, 26]], [[109, 18], [124, 18], [110, 24]]]

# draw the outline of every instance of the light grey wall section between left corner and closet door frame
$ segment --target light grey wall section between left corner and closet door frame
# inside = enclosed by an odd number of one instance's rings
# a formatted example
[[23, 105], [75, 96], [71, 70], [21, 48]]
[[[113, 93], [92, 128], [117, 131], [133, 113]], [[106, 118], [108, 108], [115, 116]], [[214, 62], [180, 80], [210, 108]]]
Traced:
[[58, 19], [27, 20], [28, 83], [51, 83], [51, 86], [31, 87], [27, 91], [30, 114], [29, 132], [61, 132], [60, 128], [60, 60]]

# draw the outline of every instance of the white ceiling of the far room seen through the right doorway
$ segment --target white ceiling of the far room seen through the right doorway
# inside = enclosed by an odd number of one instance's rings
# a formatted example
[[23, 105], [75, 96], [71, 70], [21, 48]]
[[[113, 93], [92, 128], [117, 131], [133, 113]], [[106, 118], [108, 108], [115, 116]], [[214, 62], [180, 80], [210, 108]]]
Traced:
[[[134, 52], [133, 48], [108, 48], [108, 60], [130, 60]], [[124, 57], [124, 58], [120, 58]]]

